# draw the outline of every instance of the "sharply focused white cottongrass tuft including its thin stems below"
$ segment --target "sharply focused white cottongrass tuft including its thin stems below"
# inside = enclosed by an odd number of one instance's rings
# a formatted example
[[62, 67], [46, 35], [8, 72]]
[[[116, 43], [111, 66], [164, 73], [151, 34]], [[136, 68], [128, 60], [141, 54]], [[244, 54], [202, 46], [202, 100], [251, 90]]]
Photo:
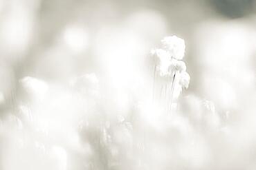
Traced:
[[167, 36], [161, 41], [161, 47], [152, 50], [154, 56], [153, 100], [171, 112], [174, 102], [187, 89], [190, 75], [182, 61], [185, 54], [185, 42], [178, 36]]

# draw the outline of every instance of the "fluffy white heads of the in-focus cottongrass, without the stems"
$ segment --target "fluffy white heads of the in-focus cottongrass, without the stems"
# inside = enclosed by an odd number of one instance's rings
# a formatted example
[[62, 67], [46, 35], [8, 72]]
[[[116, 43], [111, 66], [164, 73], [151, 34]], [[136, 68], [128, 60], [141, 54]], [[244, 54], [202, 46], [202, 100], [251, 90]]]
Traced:
[[152, 50], [156, 57], [156, 72], [161, 77], [174, 77], [180, 74], [179, 83], [182, 87], [188, 88], [190, 75], [186, 72], [186, 65], [183, 61], [185, 54], [185, 42], [177, 36], [167, 36], [161, 41], [161, 48]]

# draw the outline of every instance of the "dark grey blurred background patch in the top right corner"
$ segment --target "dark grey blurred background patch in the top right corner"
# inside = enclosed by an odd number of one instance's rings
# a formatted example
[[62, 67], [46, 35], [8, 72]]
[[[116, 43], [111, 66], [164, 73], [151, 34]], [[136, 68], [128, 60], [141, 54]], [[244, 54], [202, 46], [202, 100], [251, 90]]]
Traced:
[[230, 18], [244, 17], [253, 12], [255, 0], [210, 0], [221, 14]]

